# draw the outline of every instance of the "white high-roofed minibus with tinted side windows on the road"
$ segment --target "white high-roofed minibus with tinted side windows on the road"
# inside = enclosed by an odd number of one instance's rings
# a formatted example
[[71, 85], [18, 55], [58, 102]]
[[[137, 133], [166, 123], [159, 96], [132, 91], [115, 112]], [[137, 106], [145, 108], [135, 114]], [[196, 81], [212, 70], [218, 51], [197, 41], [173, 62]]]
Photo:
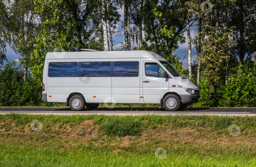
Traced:
[[200, 101], [198, 87], [149, 51], [50, 52], [42, 100], [74, 111], [100, 103], [163, 104], [167, 111]]

